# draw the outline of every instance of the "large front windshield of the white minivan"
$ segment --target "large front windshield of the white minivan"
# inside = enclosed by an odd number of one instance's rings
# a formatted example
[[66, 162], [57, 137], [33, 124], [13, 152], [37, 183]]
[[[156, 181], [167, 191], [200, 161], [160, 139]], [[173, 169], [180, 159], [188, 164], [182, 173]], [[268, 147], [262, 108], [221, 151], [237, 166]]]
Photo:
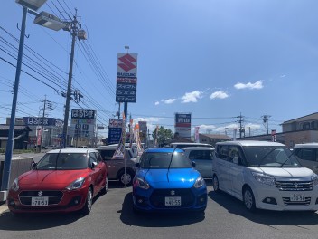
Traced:
[[295, 155], [285, 147], [245, 146], [243, 150], [251, 167], [302, 167]]

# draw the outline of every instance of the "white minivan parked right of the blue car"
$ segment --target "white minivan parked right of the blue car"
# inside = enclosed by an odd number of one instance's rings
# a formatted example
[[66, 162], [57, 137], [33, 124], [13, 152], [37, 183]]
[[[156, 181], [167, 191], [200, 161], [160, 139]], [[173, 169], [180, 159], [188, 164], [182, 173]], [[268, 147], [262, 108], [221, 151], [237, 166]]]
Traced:
[[213, 189], [235, 196], [249, 211], [318, 210], [318, 177], [276, 142], [227, 141], [216, 144]]

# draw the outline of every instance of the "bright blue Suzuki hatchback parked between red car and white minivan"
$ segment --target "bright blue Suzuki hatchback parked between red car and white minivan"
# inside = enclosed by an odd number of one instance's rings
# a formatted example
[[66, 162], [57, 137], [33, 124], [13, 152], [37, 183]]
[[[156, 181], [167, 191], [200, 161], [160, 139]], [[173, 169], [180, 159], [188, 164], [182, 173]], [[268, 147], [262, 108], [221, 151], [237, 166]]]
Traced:
[[207, 186], [193, 166], [182, 149], [146, 149], [136, 164], [134, 211], [204, 212]]

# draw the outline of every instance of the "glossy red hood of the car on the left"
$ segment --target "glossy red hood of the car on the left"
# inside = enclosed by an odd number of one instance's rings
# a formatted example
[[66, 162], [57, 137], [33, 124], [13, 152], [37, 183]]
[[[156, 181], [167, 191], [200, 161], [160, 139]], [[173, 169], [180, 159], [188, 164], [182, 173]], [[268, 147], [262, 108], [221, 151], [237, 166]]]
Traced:
[[88, 169], [84, 170], [31, 170], [19, 177], [21, 189], [31, 188], [64, 188], [79, 177], [86, 177]]

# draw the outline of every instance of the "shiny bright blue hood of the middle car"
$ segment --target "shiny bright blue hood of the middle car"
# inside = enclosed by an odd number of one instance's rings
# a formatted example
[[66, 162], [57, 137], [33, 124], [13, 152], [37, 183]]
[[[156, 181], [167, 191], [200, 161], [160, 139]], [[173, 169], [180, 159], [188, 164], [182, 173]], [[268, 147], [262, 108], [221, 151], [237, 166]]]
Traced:
[[137, 177], [145, 180], [154, 188], [189, 188], [200, 177], [200, 173], [193, 168], [141, 169]]

